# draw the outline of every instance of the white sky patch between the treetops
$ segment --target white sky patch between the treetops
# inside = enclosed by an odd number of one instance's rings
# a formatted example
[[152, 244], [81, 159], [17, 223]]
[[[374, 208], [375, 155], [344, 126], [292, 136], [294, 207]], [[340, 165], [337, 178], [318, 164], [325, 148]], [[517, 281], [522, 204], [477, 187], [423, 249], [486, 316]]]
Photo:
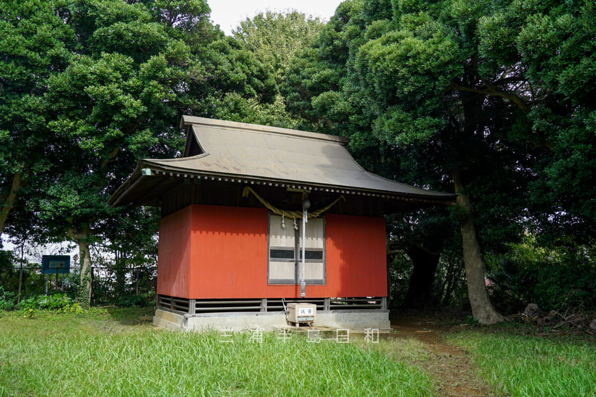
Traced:
[[228, 36], [240, 21], [267, 9], [298, 10], [328, 21], [341, 2], [342, 0], [207, 0], [211, 8], [211, 20], [214, 24], [219, 24]]

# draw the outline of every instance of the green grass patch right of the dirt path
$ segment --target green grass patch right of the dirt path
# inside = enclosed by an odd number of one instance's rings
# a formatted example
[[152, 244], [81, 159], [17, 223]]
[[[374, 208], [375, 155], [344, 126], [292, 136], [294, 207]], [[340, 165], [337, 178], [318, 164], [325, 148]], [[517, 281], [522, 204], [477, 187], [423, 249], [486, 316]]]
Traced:
[[596, 396], [596, 346], [473, 332], [449, 340], [512, 397]]

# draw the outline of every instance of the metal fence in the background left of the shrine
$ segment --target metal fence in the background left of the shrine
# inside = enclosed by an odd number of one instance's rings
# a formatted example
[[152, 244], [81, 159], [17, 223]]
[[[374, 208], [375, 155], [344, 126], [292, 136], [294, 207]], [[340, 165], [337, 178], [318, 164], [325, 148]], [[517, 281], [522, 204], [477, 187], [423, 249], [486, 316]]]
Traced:
[[[91, 274], [92, 305], [132, 306], [155, 302], [155, 267], [92, 267]], [[58, 271], [45, 274], [41, 267], [0, 268], [0, 287], [17, 301], [51, 293], [66, 293], [76, 298], [79, 283], [79, 267], [71, 267], [66, 274]]]

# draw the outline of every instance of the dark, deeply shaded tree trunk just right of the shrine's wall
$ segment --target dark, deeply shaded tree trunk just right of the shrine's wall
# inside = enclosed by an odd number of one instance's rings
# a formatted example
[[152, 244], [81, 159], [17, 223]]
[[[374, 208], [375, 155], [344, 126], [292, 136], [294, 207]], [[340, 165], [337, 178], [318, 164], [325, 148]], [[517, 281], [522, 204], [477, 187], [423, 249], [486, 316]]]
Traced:
[[439, 264], [440, 254], [430, 252], [417, 245], [406, 250], [414, 268], [410, 277], [408, 292], [403, 300], [403, 307], [419, 308], [432, 305], [434, 302], [434, 273]]

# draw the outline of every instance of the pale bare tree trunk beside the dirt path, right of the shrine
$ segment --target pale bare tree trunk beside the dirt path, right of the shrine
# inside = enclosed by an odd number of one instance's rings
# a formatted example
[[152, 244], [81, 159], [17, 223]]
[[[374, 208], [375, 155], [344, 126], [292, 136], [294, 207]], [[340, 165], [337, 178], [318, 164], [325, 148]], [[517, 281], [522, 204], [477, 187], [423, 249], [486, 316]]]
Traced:
[[480, 245], [474, 228], [474, 217], [470, 198], [462, 194], [464, 183], [460, 171], [452, 173], [455, 192], [459, 194], [457, 205], [465, 211], [464, 223], [461, 225], [462, 248], [464, 251], [465, 279], [468, 285], [468, 298], [472, 307], [472, 315], [480, 324], [494, 324], [504, 321], [501, 314], [495, 311], [486, 292], [484, 265], [480, 256]]

